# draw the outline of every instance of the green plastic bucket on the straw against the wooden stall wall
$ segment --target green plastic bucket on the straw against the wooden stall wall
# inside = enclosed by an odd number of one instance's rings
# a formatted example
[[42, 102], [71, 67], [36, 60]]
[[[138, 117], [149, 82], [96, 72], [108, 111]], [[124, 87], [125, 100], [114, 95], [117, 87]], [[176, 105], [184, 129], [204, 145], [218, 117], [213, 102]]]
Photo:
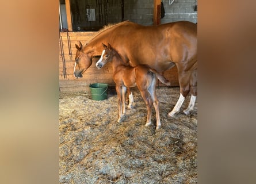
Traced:
[[100, 101], [108, 97], [108, 84], [106, 83], [93, 83], [90, 84], [91, 99]]

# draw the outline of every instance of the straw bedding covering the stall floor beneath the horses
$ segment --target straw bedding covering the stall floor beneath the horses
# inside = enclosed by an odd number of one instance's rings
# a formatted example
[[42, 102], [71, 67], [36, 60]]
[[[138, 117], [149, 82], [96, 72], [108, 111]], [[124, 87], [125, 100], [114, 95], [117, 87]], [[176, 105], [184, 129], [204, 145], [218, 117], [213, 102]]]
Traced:
[[59, 183], [197, 183], [197, 102], [189, 116], [171, 118], [179, 88], [157, 88], [156, 95], [157, 131], [155, 110], [144, 127], [147, 108], [138, 90], [120, 123], [117, 95], [94, 101], [82, 92], [60, 93]]

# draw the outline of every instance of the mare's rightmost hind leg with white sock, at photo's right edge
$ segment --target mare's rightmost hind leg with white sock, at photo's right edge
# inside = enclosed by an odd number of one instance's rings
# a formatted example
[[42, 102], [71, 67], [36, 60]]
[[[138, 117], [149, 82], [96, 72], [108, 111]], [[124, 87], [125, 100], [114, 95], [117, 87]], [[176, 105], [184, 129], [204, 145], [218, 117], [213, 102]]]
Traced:
[[183, 112], [188, 115], [190, 110], [194, 109], [194, 103], [196, 102], [197, 97], [197, 70], [193, 71], [193, 74], [190, 79], [190, 90], [191, 90], [191, 98], [188, 105], [188, 108], [186, 108]]

